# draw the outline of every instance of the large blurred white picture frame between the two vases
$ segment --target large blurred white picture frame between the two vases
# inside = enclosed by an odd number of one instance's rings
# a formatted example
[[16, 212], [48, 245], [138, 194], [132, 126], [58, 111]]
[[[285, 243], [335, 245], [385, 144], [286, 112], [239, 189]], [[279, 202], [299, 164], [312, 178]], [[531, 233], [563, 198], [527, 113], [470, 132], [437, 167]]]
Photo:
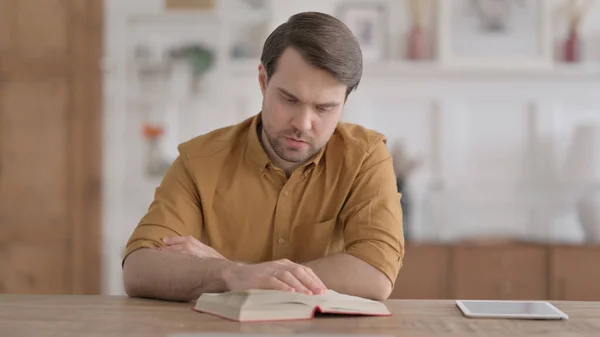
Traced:
[[547, 69], [553, 64], [547, 0], [439, 1], [438, 10], [443, 66]]

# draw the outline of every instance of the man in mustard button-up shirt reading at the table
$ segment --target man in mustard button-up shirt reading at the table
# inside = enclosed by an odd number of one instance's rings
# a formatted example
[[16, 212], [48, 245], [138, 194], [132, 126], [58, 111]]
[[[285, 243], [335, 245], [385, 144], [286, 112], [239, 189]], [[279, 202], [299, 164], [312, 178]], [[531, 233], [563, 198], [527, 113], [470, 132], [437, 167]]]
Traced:
[[266, 40], [258, 70], [257, 116], [179, 146], [127, 244], [127, 293], [386, 299], [404, 256], [402, 210], [384, 136], [340, 123], [362, 75], [356, 39], [329, 15], [300, 13]]

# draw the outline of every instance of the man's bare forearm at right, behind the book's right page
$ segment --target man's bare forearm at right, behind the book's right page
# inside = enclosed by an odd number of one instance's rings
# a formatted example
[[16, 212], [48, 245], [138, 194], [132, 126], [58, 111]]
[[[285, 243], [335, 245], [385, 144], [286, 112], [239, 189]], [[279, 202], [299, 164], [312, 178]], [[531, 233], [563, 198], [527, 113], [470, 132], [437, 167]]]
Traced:
[[310, 267], [327, 288], [339, 293], [384, 300], [392, 291], [387, 276], [350, 254], [335, 254], [304, 265]]

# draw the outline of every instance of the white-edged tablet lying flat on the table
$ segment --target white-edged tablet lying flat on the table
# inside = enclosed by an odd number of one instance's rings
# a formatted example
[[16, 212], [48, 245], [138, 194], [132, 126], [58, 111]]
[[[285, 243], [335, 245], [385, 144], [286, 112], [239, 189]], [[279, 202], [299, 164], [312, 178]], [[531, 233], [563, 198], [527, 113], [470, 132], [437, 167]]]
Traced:
[[545, 302], [462, 301], [462, 303], [474, 315], [561, 316], [560, 312]]

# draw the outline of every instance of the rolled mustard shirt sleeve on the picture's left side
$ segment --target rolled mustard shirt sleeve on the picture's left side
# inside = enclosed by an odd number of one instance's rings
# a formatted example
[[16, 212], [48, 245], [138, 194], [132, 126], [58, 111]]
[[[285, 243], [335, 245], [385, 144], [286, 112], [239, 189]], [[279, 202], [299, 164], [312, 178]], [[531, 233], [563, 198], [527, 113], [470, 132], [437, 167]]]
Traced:
[[200, 196], [179, 156], [156, 188], [154, 200], [127, 242], [123, 262], [137, 249], [164, 246], [166, 236], [193, 236], [200, 240], [203, 216]]

